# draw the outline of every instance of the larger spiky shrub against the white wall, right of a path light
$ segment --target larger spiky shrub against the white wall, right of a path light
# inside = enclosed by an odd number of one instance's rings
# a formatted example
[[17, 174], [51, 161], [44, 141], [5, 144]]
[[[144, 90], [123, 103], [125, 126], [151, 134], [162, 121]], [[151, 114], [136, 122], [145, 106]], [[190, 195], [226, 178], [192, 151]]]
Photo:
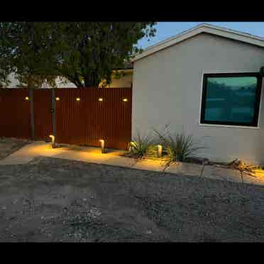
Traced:
[[193, 141], [192, 135], [185, 135], [185, 133], [171, 134], [170, 131], [167, 133], [160, 133], [154, 131], [160, 139], [160, 144], [163, 145], [169, 160], [172, 161], [186, 161], [191, 158], [191, 155], [199, 149], [204, 148], [202, 145], [197, 145]]

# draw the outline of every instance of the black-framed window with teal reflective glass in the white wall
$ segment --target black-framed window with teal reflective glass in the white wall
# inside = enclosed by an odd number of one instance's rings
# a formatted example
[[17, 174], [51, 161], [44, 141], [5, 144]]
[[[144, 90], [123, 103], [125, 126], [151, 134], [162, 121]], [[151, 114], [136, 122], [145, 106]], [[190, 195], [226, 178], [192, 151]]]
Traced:
[[260, 92], [258, 73], [204, 74], [200, 123], [258, 126]]

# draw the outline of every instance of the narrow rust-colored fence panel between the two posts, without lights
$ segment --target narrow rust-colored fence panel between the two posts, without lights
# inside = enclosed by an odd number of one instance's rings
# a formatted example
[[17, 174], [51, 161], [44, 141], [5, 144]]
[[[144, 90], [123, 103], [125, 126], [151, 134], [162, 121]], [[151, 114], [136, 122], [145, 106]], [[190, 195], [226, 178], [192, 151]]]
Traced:
[[51, 89], [33, 91], [34, 138], [49, 140], [53, 131]]

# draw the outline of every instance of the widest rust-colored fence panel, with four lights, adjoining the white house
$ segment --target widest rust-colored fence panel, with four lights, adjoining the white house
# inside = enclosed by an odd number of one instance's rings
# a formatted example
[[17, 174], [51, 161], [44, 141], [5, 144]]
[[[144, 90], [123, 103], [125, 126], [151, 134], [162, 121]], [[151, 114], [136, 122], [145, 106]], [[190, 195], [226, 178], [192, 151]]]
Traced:
[[63, 88], [55, 90], [55, 97], [59, 99], [55, 106], [57, 143], [100, 146], [99, 140], [104, 139], [106, 148], [127, 148], [131, 88]]

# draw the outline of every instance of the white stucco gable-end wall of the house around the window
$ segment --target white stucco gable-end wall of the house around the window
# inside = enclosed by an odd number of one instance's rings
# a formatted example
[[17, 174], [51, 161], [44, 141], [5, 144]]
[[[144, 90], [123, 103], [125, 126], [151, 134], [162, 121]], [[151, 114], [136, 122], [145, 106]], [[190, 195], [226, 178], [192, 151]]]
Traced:
[[259, 71], [264, 48], [201, 33], [133, 65], [133, 136], [153, 128], [192, 133], [211, 160], [264, 163], [264, 92], [259, 128], [199, 125], [203, 72]]

